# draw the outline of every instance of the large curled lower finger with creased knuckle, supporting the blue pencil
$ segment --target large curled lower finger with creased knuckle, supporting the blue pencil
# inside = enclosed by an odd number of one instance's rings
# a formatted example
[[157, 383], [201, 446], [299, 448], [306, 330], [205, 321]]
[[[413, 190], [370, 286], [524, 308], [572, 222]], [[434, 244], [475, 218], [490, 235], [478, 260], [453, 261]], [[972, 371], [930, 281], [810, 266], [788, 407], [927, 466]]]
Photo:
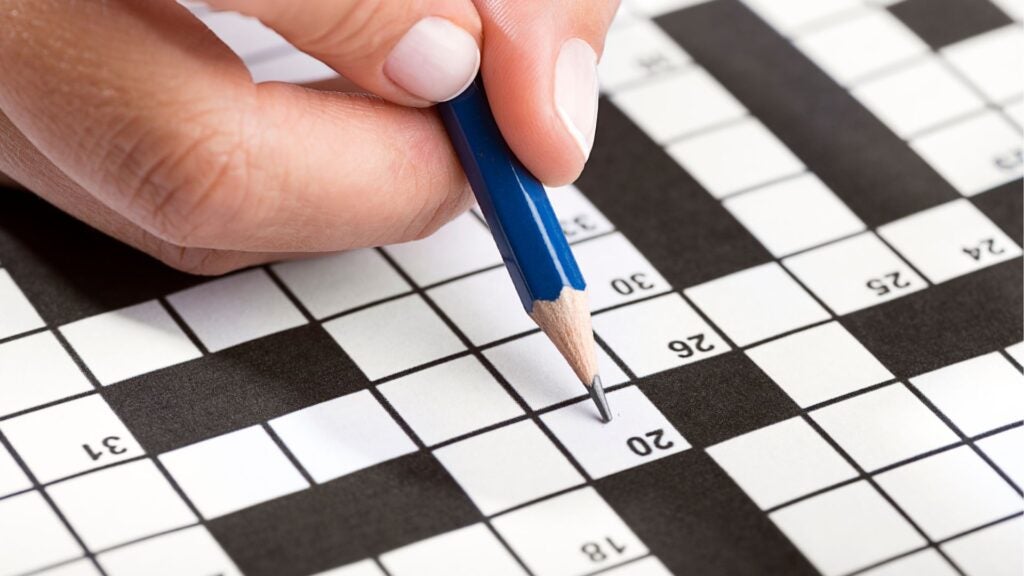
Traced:
[[58, 4], [0, 14], [0, 109], [75, 181], [168, 242], [339, 250], [421, 237], [469, 203], [430, 112], [254, 85], [173, 2]]

